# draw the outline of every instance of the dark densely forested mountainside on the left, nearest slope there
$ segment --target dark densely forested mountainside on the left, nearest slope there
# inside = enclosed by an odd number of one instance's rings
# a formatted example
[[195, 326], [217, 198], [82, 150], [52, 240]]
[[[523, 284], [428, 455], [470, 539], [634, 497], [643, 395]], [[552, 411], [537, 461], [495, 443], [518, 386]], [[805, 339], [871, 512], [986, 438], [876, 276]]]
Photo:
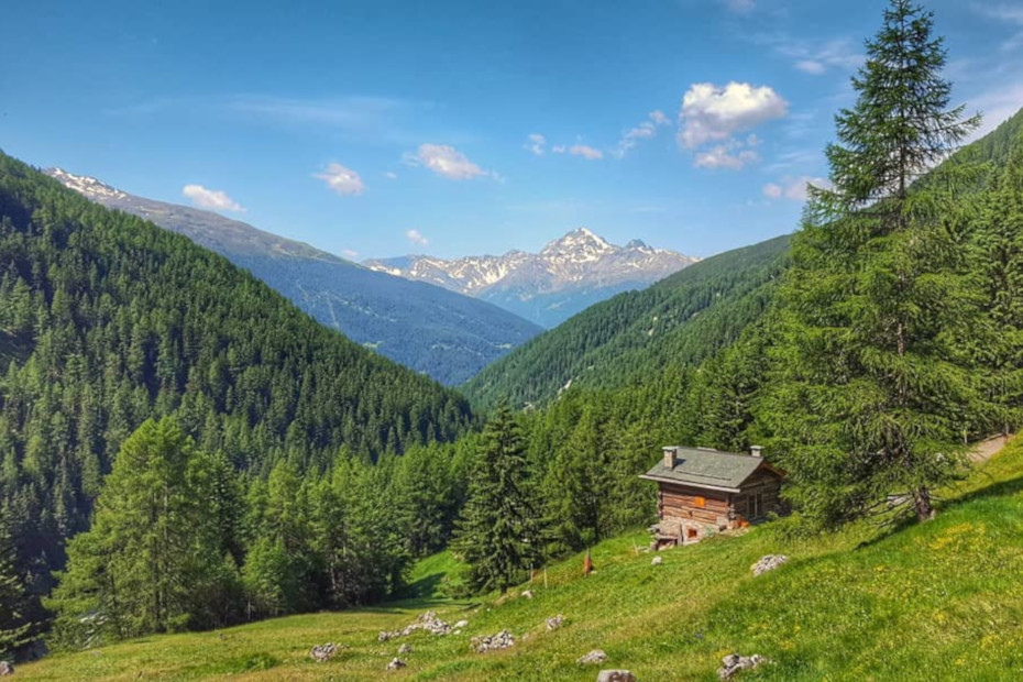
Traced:
[[[448, 441], [454, 393], [346, 340], [222, 256], [0, 155], [0, 516], [30, 590], [125, 439], [174, 414], [265, 476]], [[13, 360], [13, 362], [10, 362]]]

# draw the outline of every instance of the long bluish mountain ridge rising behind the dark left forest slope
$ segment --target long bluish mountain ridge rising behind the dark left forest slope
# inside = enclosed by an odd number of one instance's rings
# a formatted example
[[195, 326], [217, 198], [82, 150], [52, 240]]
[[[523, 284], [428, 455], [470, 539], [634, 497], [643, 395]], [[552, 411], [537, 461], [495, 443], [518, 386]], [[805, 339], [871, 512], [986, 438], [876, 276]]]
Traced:
[[185, 234], [249, 270], [321, 323], [455, 385], [541, 329], [484, 300], [409, 282], [218, 213], [130, 195], [61, 168], [47, 175], [108, 208]]

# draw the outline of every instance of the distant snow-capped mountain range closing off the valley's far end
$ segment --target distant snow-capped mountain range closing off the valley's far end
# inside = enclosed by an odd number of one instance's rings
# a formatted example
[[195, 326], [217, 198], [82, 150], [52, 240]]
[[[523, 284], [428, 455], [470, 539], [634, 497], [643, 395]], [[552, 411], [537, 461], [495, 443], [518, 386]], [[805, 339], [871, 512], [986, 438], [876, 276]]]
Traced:
[[580, 228], [540, 253], [509, 251], [503, 256], [453, 261], [408, 255], [366, 261], [365, 265], [490, 301], [552, 328], [595, 302], [646, 288], [696, 261], [639, 240], [617, 246]]

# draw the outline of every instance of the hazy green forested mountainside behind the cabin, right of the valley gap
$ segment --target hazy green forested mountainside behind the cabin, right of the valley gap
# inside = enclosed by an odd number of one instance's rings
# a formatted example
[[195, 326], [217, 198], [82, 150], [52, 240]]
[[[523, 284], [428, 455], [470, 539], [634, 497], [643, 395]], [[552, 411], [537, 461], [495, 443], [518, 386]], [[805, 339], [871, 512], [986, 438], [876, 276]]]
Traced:
[[789, 238], [701, 261], [642, 292], [619, 294], [537, 337], [465, 385], [491, 406], [540, 405], [574, 387], [659, 381], [739, 338], [771, 299]]

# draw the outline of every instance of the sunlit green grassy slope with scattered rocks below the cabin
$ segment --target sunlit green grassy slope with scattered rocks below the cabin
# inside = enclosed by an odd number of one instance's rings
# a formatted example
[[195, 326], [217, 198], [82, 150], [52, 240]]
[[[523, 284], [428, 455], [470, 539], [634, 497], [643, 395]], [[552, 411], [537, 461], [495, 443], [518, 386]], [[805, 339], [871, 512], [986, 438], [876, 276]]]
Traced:
[[[226, 630], [154, 637], [25, 666], [34, 680], [593, 680], [575, 659], [594, 648], [604, 668], [639, 680], [716, 680], [721, 658], [760, 653], [773, 663], [737, 680], [1018, 680], [1023, 676], [1023, 439], [946, 493], [935, 521], [904, 529], [851, 527], [785, 539], [783, 522], [738, 538], [670, 550], [651, 565], [642, 532], [552, 566], [536, 597], [405, 602], [342, 614], [283, 618]], [[788, 564], [754, 578], [767, 553]], [[433, 568], [449, 565], [444, 558]], [[431, 571], [421, 571], [427, 578]], [[514, 591], [518, 594], [519, 591]], [[470, 622], [460, 635], [416, 632], [378, 642], [427, 608]], [[547, 631], [556, 614], [565, 625]], [[516, 645], [485, 654], [470, 637], [508, 628]], [[524, 640], [524, 636], [528, 638]], [[350, 649], [329, 663], [316, 644]], [[385, 666], [407, 641], [408, 668]]]

